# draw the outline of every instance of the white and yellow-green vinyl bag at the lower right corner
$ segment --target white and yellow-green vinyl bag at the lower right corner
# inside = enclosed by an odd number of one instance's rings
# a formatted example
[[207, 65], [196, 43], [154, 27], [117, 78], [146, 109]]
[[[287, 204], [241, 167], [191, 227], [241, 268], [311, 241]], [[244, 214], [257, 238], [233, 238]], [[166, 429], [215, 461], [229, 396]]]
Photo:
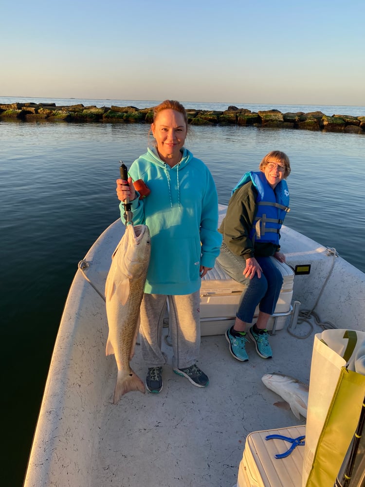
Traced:
[[302, 487], [333, 487], [356, 431], [365, 396], [365, 333], [325, 330], [314, 337]]

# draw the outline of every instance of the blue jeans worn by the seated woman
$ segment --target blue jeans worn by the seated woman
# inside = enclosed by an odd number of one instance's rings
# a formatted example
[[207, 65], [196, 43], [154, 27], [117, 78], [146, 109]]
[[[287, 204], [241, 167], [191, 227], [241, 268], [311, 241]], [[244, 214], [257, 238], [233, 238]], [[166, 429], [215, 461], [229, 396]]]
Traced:
[[274, 266], [270, 257], [256, 257], [262, 272], [261, 278], [258, 278], [257, 274], [255, 274], [253, 279], [245, 278], [243, 275], [246, 267], [244, 257], [231, 252], [224, 241], [220, 247], [217, 261], [232, 279], [246, 286], [238, 304], [237, 318], [245, 323], [252, 323], [258, 304], [262, 313], [267, 313], [268, 315], [274, 313], [281, 286], [283, 285], [283, 276]]

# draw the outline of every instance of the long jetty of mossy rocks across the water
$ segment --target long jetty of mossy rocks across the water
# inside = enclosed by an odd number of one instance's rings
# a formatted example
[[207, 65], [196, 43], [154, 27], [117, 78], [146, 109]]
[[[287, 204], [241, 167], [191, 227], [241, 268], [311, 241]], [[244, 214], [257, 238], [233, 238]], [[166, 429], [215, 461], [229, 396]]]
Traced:
[[[56, 106], [55, 103], [0, 104], [0, 120], [20, 119], [27, 122], [48, 120], [65, 122], [151, 123], [152, 108], [137, 107], [85, 107], [82, 104]], [[278, 129], [365, 134], [365, 116], [326, 115], [322, 112], [282, 113], [278, 110], [251, 112], [230, 106], [223, 112], [215, 110], [186, 110], [191, 125], [240, 125]]]

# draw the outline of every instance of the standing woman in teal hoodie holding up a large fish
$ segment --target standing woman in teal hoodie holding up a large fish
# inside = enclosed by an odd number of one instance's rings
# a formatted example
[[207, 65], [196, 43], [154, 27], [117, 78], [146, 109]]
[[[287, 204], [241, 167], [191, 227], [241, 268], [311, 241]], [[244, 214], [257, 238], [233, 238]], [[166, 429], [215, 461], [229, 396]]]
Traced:
[[[177, 101], [165, 100], [154, 108], [151, 131], [155, 147], [133, 162], [128, 181], [117, 180], [123, 202], [131, 202], [133, 223], [147, 225], [151, 234], [151, 259], [141, 304], [141, 348], [148, 363], [147, 390], [163, 387], [161, 351], [166, 298], [174, 351], [173, 370], [198, 387], [208, 377], [197, 367], [200, 348], [201, 277], [219, 255], [218, 196], [205, 164], [183, 147], [187, 115]], [[142, 179], [150, 194], [139, 199], [133, 182]], [[128, 186], [126, 183], [128, 182]]]

